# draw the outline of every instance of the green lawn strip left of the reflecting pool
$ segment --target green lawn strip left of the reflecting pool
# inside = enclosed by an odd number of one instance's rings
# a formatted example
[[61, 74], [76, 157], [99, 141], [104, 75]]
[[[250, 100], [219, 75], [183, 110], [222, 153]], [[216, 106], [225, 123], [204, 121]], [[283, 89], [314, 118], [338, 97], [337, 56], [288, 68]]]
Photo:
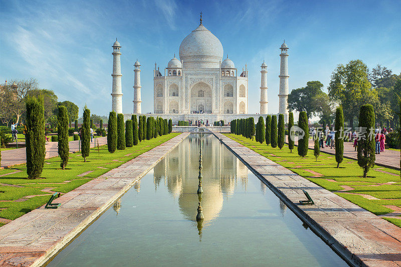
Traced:
[[[0, 175], [21, 170], [18, 173], [0, 177], [0, 183], [2, 184], [18, 185], [18, 187], [0, 186], [0, 200], [6, 200], [0, 202], [0, 209], [2, 209], [0, 217], [14, 220], [42, 206], [49, 200], [51, 193], [44, 192], [42, 191], [43, 189], [52, 188], [52, 191], [67, 193], [178, 134], [171, 133], [149, 141], [142, 141], [137, 146], [127, 147], [125, 150], [116, 150], [112, 154], [108, 152], [107, 145], [100, 146], [99, 151], [97, 147], [91, 148], [87, 162], [83, 161], [79, 152], [70, 153], [70, 159], [65, 170], [60, 168], [59, 157], [45, 159], [45, 166], [40, 179], [27, 179], [27, 167], [25, 164], [13, 169], [0, 170]], [[93, 172], [83, 177], [77, 176], [86, 171]], [[18, 199], [23, 201], [17, 202], [16, 200]]]

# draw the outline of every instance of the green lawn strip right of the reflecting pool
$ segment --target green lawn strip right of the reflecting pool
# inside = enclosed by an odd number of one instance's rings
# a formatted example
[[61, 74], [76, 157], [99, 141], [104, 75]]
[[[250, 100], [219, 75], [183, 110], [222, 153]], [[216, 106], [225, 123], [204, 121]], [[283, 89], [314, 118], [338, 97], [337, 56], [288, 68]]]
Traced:
[[[320, 152], [316, 162], [312, 149], [309, 149], [308, 155], [302, 158], [298, 156], [297, 147], [293, 149], [293, 153], [290, 153], [287, 144], [280, 150], [279, 148], [272, 148], [270, 145], [267, 146], [266, 143], [260, 144], [240, 135], [225, 135], [376, 215], [393, 211], [385, 207], [385, 205], [401, 207], [401, 183], [398, 170], [374, 166], [367, 173], [367, 177], [363, 178], [362, 169], [356, 160], [344, 158], [340, 168], [337, 169], [335, 156], [323, 151]], [[314, 174], [308, 170], [315, 171], [323, 176], [313, 177]], [[383, 171], [388, 173], [383, 173]], [[347, 192], [353, 194], [336, 192], [344, 189], [341, 185], [352, 187], [354, 190]], [[363, 194], [373, 196], [378, 200], [367, 199], [362, 196]], [[397, 226], [401, 225], [401, 219], [391, 218], [391, 220], [387, 220]]]

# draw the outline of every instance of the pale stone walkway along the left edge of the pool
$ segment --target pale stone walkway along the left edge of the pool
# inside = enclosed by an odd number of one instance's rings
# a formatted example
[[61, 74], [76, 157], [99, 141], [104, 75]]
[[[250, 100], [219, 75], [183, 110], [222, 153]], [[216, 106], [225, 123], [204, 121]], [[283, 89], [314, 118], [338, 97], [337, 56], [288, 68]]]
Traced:
[[41, 266], [105, 211], [189, 133], [177, 135], [0, 227], [0, 266]]

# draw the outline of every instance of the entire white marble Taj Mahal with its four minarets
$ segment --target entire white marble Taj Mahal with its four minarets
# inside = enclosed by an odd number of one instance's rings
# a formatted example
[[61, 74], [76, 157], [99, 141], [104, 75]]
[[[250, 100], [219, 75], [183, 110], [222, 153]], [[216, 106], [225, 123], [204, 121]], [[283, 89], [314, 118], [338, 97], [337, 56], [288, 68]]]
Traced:
[[[113, 44], [112, 110], [122, 111], [120, 43]], [[288, 46], [280, 47], [280, 86], [278, 90], [279, 110], [271, 115], [284, 114], [288, 120]], [[133, 114], [141, 115], [140, 63], [134, 63]], [[171, 118], [173, 124], [188, 120], [224, 120], [254, 117], [268, 113], [267, 64], [261, 64], [260, 114], [248, 113], [247, 65], [238, 71], [228, 55], [224, 59], [223, 45], [202, 23], [179, 46], [179, 59], [174, 57], [164, 70], [154, 64], [153, 113], [146, 116]], [[150, 104], [150, 103], [148, 103]], [[251, 105], [254, 102], [250, 103]], [[131, 114], [124, 114], [126, 119]]]

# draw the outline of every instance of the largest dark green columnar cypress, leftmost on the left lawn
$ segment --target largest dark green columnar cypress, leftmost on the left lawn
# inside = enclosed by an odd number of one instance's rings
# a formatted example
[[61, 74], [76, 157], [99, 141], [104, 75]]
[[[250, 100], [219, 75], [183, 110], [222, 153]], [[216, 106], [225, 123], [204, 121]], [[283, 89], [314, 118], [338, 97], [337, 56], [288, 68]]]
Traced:
[[43, 98], [27, 97], [27, 131], [25, 145], [28, 179], [36, 179], [45, 165], [45, 116]]

